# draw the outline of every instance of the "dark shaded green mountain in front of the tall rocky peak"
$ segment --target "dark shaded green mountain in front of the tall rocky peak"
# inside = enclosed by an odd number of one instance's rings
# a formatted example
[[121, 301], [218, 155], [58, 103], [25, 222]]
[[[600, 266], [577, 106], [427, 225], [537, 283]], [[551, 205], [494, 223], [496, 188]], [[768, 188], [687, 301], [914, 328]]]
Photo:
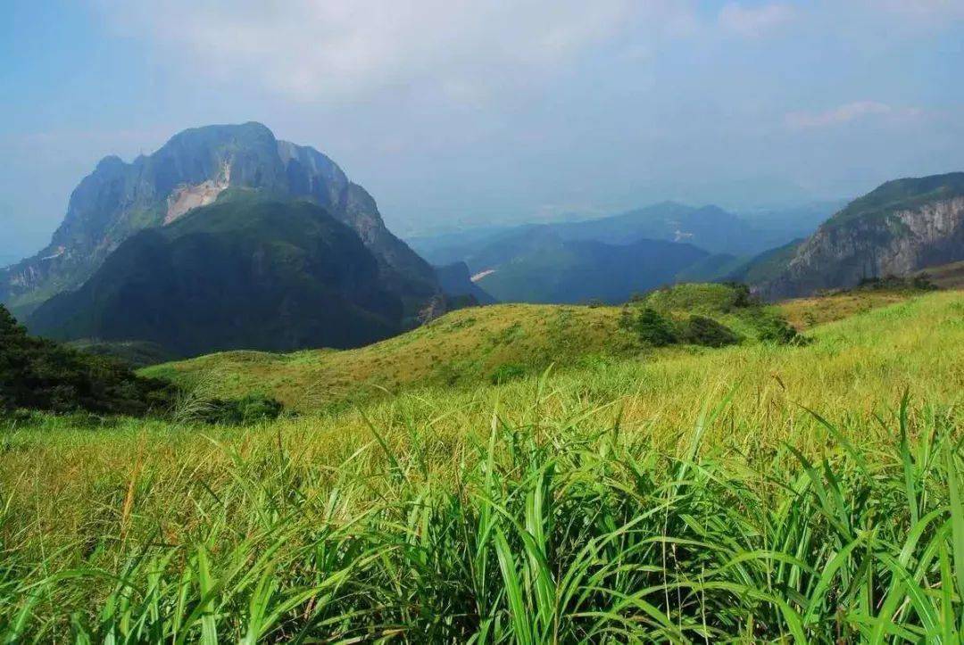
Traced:
[[359, 234], [316, 203], [242, 193], [134, 233], [27, 326], [179, 356], [355, 347], [403, 328], [402, 297], [381, 274]]

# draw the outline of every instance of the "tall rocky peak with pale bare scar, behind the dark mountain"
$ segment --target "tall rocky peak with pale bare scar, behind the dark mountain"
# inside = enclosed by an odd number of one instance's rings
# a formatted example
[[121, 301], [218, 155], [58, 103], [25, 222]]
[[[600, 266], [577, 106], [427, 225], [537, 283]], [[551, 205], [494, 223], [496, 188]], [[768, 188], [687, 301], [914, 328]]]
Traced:
[[305, 199], [353, 228], [375, 256], [383, 282], [406, 316], [438, 294], [432, 267], [388, 231], [375, 201], [314, 148], [279, 141], [249, 122], [209, 125], [174, 135], [131, 163], [106, 157], [74, 189], [67, 216], [38, 255], [0, 269], [0, 302], [20, 313], [76, 289], [120, 244], [146, 228], [170, 226], [228, 189]]

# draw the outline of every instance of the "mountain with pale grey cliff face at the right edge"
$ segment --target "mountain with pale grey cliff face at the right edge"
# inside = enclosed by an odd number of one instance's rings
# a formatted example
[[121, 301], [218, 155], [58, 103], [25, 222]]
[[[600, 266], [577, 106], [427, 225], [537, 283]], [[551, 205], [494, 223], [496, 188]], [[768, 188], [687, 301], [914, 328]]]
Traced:
[[964, 173], [888, 181], [743, 273], [770, 300], [964, 259]]

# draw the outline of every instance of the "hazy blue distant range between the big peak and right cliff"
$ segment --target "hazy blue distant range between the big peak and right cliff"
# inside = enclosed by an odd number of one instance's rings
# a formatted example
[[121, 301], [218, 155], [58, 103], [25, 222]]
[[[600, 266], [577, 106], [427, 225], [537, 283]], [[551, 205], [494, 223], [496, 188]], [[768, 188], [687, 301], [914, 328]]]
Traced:
[[506, 302], [622, 302], [671, 282], [720, 279], [764, 249], [804, 235], [835, 204], [737, 216], [662, 202], [576, 222], [468, 230], [410, 240], [435, 263], [464, 262]]

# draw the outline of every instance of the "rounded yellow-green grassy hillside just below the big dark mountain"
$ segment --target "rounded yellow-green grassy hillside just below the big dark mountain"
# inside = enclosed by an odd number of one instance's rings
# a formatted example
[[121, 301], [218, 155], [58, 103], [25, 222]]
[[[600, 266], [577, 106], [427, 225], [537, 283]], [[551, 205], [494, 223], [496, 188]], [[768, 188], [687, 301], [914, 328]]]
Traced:
[[257, 390], [310, 409], [383, 389], [474, 385], [504, 364], [539, 369], [590, 355], [625, 355], [636, 347], [618, 330], [619, 310], [552, 305], [460, 309], [361, 349], [226, 352], [156, 365], [144, 373], [175, 381], [200, 377], [218, 393]]

